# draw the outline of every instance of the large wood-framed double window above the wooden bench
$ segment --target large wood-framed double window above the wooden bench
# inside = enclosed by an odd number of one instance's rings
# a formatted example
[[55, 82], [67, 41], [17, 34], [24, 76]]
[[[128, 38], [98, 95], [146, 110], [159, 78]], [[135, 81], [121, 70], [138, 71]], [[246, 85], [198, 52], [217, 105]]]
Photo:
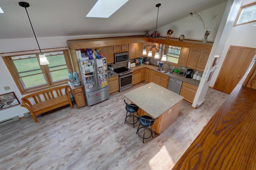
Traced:
[[67, 83], [68, 72], [72, 72], [68, 51], [47, 51], [44, 55], [50, 64], [40, 65], [39, 53], [31, 51], [3, 57], [21, 94]]

